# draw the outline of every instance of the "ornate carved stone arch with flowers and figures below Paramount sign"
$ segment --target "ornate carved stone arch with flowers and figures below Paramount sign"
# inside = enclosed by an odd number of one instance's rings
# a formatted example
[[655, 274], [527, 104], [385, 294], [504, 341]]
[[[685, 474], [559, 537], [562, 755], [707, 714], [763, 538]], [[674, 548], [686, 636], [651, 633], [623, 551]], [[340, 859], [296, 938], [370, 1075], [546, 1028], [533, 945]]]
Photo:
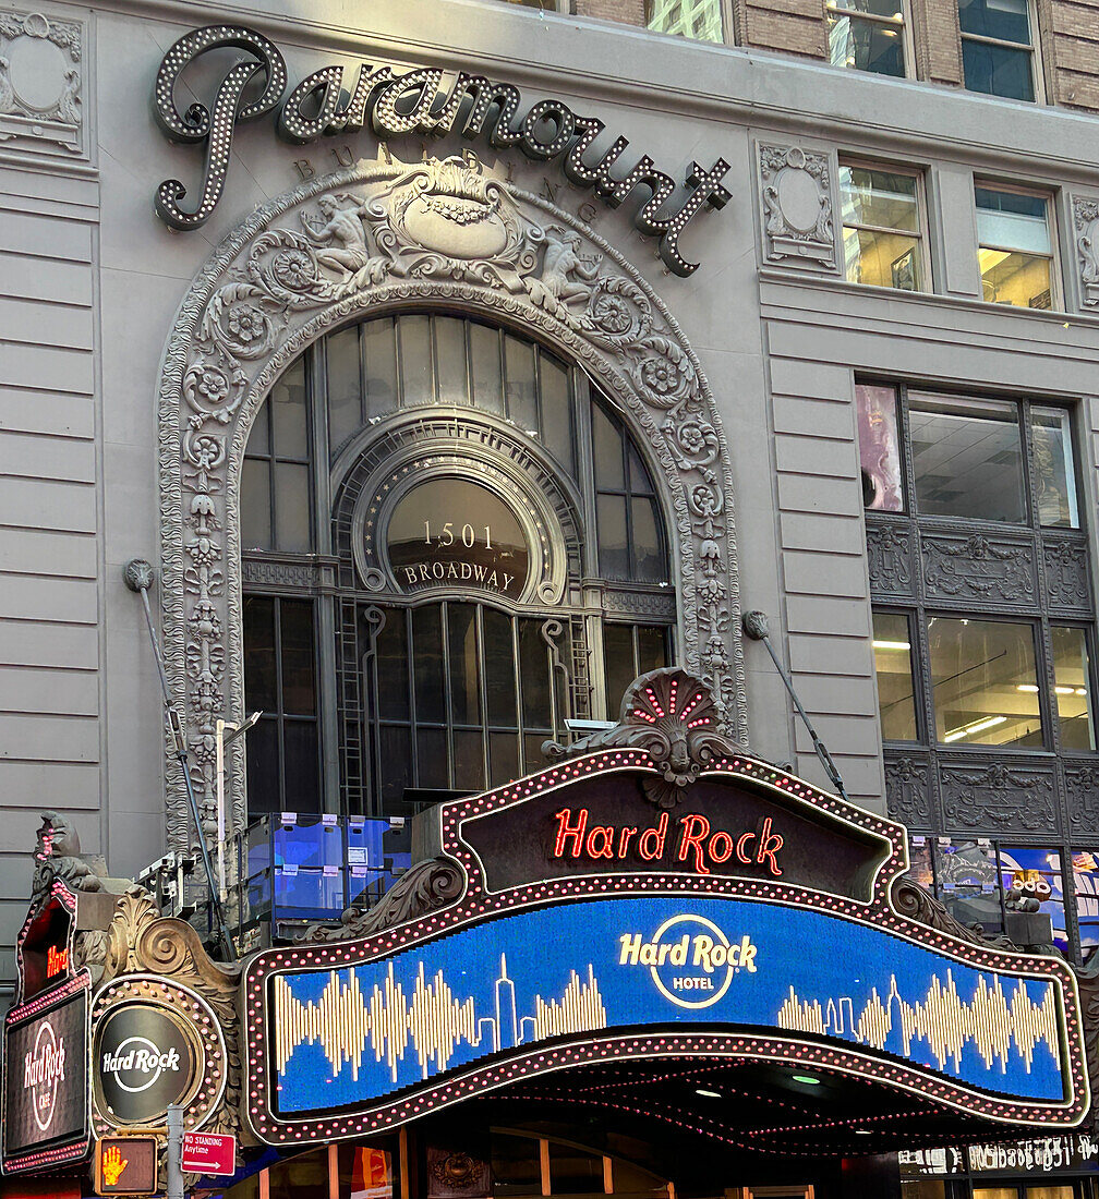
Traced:
[[[212, 829], [215, 722], [244, 710], [240, 469], [280, 373], [329, 329], [446, 303], [577, 361], [657, 468], [673, 529], [681, 664], [746, 742], [732, 474], [714, 398], [660, 297], [596, 233], [463, 158], [360, 162], [244, 221], [196, 277], [160, 381], [161, 617], [169, 686]], [[230, 803], [244, 809], [240, 742]], [[166, 751], [168, 843], [188, 840]]]

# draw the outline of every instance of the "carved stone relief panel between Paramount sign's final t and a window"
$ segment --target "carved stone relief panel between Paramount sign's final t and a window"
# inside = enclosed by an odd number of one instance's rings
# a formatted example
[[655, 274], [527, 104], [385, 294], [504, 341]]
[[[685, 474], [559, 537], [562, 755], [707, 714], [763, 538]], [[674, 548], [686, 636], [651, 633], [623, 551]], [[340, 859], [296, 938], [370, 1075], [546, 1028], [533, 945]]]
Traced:
[[759, 176], [767, 259], [801, 259], [836, 271], [828, 155], [761, 145]]

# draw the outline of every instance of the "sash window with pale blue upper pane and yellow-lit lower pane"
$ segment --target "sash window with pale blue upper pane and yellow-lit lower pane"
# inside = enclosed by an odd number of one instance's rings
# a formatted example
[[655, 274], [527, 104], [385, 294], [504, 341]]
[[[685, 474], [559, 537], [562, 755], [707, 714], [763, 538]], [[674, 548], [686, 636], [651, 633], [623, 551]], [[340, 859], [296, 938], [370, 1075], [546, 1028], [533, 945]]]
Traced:
[[974, 198], [984, 299], [1020, 308], [1059, 308], [1050, 197], [978, 182]]

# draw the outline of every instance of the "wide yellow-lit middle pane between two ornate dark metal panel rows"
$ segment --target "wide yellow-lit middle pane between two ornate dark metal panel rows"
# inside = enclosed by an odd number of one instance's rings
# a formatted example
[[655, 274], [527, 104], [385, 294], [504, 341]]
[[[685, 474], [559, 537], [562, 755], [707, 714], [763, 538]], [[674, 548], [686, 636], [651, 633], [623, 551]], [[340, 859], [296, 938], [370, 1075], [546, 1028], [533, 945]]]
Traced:
[[939, 742], [1041, 748], [1031, 625], [932, 616], [927, 640]]

